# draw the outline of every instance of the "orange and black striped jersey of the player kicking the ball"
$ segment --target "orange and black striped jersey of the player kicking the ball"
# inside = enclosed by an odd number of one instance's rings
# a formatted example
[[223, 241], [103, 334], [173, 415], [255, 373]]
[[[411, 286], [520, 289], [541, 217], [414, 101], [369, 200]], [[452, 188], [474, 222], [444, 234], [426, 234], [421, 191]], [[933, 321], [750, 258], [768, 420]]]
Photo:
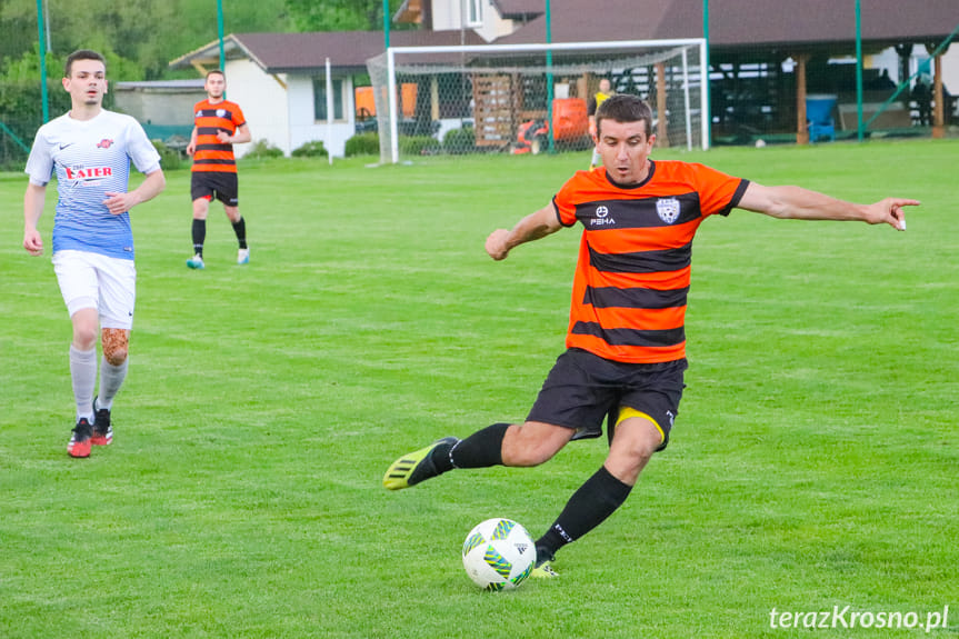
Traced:
[[651, 162], [641, 184], [580, 171], [553, 199], [563, 226], [583, 226], [567, 347], [615, 361], [686, 357], [692, 239], [711, 214], [728, 214], [749, 186], [703, 164]]

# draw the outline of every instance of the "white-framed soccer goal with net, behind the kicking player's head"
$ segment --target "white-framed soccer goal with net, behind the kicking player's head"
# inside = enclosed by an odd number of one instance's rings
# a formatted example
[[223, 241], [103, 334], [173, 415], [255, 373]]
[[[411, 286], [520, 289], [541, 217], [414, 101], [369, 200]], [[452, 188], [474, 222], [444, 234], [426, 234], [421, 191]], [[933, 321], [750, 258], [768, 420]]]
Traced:
[[592, 148], [600, 82], [647, 100], [658, 147], [707, 148], [702, 39], [391, 47], [367, 61], [380, 160]]

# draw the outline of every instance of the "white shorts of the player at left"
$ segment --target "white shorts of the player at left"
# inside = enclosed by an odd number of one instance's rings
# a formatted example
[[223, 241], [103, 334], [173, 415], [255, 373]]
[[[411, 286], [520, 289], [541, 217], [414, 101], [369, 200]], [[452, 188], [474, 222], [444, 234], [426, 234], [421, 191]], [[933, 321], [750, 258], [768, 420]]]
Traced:
[[57, 251], [53, 271], [70, 317], [80, 309], [97, 309], [100, 328], [129, 330], [137, 301], [133, 260], [108, 258], [87, 251]]

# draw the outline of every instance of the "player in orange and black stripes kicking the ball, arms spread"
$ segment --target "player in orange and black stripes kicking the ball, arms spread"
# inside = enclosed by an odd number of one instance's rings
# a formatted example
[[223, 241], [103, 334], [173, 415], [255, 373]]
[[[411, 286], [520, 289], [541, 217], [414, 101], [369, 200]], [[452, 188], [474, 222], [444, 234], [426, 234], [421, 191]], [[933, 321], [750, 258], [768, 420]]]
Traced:
[[599, 437], [609, 416], [609, 455], [537, 542], [535, 576], [552, 577], [556, 551], [601, 523], [626, 500], [678, 413], [686, 363], [683, 316], [691, 242], [709, 216], [733, 208], [805, 220], [859, 220], [906, 230], [887, 198], [855, 204], [800, 189], [763, 187], [701, 164], [650, 159], [652, 113], [635, 96], [597, 111], [603, 167], [576, 173], [552, 203], [486, 242], [495, 260], [576, 222], [583, 226], [567, 350], [525, 423], [495, 423], [443, 438], [399, 458], [383, 485], [408, 488], [453, 468], [537, 466], [573, 439]]

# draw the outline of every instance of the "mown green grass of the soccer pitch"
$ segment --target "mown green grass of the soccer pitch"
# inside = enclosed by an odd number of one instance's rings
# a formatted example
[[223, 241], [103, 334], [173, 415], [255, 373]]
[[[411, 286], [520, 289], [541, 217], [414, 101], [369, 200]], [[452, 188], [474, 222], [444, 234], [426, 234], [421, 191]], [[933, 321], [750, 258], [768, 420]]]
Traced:
[[[772, 609], [927, 612], [959, 637], [959, 141], [665, 153], [845, 199], [915, 197], [909, 230], [708, 220], [669, 449], [567, 547], [489, 595], [459, 549], [533, 536], [603, 440], [536, 469], [389, 493], [399, 455], [521, 420], [562, 351], [579, 230], [493, 262], [588, 152], [241, 169], [252, 262], [216, 204], [189, 271], [189, 174], [133, 212], [138, 304], [114, 442], [66, 447], [70, 325], [49, 246], [0, 176], [0, 637], [919, 637], [779, 629]], [[52, 189], [51, 189], [52, 190]], [[849, 619], [849, 615], [846, 615]]]

